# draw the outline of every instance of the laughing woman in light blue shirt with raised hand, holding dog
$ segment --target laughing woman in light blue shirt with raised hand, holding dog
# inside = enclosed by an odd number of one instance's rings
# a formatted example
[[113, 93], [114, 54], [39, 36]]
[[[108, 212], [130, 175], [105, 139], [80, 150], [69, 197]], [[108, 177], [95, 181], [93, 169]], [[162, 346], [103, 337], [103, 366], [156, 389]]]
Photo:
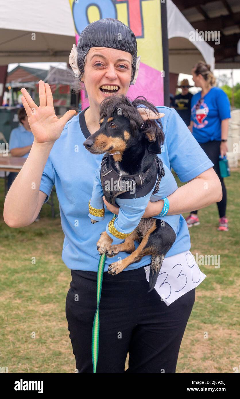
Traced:
[[[99, 34], [96, 35], [95, 30]], [[102, 31], [104, 34], [101, 35]], [[114, 42], [119, 32], [121, 40]], [[137, 41], [125, 24], [107, 18], [89, 24], [79, 37], [77, 49], [73, 47], [73, 50], [77, 54], [73, 54], [71, 66], [73, 70], [79, 70], [89, 107], [75, 116], [75, 111], [68, 111], [58, 119], [47, 83], [39, 82], [39, 107], [26, 89], [21, 90], [34, 143], [6, 196], [4, 221], [11, 227], [31, 224], [55, 184], [65, 234], [62, 259], [71, 269], [72, 276], [66, 298], [69, 337], [78, 372], [92, 373], [91, 334], [97, 304], [99, 261], [96, 242], [113, 214], [105, 209], [104, 221], [93, 225], [90, 222], [88, 203], [102, 154], [86, 151], [83, 142], [99, 129], [101, 101], [114, 95], [105, 94], [102, 87], [117, 86], [119, 93], [127, 95], [129, 85], [136, 77]], [[160, 156], [169, 169], [174, 168], [181, 181], [188, 182], [168, 196], [169, 215], [219, 201], [221, 185], [212, 162], [174, 109], [158, 109], [159, 113], [165, 114], [162, 119], [165, 143]], [[32, 182], [36, 183], [36, 190], [32, 190]], [[203, 182], [208, 182], [208, 198]], [[163, 205], [162, 199], [149, 202], [144, 217], [158, 215]], [[192, 257], [189, 258], [189, 249], [188, 228], [180, 215], [176, 241], [162, 266], [167, 265], [169, 274], [175, 273], [171, 282], [167, 282], [165, 276], [161, 283], [167, 290], [171, 288], [169, 296], [177, 295], [169, 306], [166, 297], [161, 298], [157, 290], [147, 293], [145, 267], [151, 263], [151, 257], [143, 257], [115, 276], [107, 273], [109, 264], [119, 260], [119, 255], [121, 260], [129, 254], [121, 252], [116, 257], [106, 258], [99, 307], [97, 373], [124, 373], [127, 352], [127, 373], [175, 373], [182, 336], [194, 304], [195, 286], [198, 285], [186, 281], [186, 275], [179, 269], [181, 262], [182, 268], [185, 267], [186, 257], [190, 273], [195, 268], [199, 276], [198, 267], [191, 263]]]

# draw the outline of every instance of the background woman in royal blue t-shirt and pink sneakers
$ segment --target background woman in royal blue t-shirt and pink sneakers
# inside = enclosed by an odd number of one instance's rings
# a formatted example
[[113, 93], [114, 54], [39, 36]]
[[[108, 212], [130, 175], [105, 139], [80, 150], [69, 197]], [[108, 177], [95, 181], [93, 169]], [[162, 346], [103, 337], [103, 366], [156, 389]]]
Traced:
[[[192, 69], [193, 81], [201, 91], [196, 93], [191, 100], [190, 130], [208, 158], [214, 164], [214, 170], [222, 184], [222, 199], [217, 202], [219, 213], [219, 231], [228, 231], [226, 218], [227, 194], [224, 180], [220, 175], [219, 155], [222, 157], [228, 151], [228, 119], [230, 103], [226, 93], [219, 87], [214, 87], [215, 78], [210, 71], [210, 65], [198, 62]], [[207, 193], [207, 191], [206, 191]], [[198, 211], [191, 211], [186, 218], [188, 227], [199, 225]]]

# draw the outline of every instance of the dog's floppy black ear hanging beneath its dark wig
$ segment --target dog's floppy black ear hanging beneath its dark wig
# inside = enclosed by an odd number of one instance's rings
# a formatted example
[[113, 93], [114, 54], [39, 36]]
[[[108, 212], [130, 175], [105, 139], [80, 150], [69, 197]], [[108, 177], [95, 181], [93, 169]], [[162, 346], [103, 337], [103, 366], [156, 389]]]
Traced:
[[164, 142], [164, 133], [153, 120], [147, 120], [142, 126], [143, 134], [148, 141], [147, 149], [154, 154], [161, 154], [161, 145]]

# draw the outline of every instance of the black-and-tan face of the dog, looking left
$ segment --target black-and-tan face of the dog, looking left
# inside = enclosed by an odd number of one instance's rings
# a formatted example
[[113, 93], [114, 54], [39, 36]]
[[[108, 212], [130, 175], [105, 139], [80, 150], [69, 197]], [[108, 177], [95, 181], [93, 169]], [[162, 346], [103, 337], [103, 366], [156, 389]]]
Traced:
[[91, 136], [84, 141], [83, 145], [92, 154], [103, 154], [104, 152], [113, 154], [119, 151], [120, 154], [114, 155], [114, 159], [121, 159], [123, 152], [134, 142], [130, 133], [129, 120], [123, 116], [105, 117], [99, 122], [100, 129], [91, 134]]

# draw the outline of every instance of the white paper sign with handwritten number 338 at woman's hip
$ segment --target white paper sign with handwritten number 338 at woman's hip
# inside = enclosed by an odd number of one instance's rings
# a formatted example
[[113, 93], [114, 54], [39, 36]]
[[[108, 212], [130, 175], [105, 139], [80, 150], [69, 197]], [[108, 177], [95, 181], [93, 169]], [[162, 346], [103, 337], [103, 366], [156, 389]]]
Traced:
[[[149, 281], [150, 266], [146, 266], [144, 269], [147, 281]], [[154, 288], [169, 306], [180, 296], [197, 287], [205, 277], [206, 275], [200, 271], [192, 253], [186, 251], [163, 260]]]

